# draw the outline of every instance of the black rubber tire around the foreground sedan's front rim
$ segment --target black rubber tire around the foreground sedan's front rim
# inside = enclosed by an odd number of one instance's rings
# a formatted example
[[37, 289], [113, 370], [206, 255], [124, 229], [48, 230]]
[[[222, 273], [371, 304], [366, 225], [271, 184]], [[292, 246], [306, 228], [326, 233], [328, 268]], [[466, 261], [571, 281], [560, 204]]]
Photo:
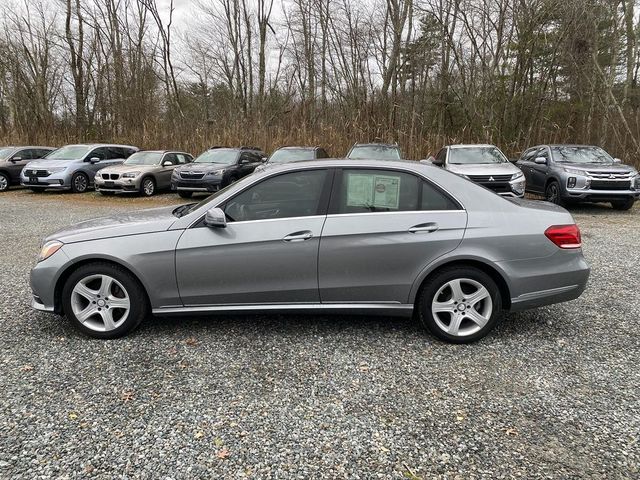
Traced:
[[[73, 291], [73, 287], [81, 279], [89, 275], [99, 274], [109, 275], [120, 282], [127, 291], [131, 302], [129, 316], [125, 322], [120, 327], [109, 332], [97, 332], [86, 327], [75, 317], [71, 308], [71, 292]], [[118, 338], [126, 335], [140, 325], [140, 322], [142, 322], [142, 320], [148, 315], [149, 311], [147, 295], [140, 285], [140, 282], [125, 269], [110, 263], [102, 262], [82, 265], [71, 273], [62, 289], [62, 307], [64, 309], [65, 316], [75, 328], [90, 337], [103, 339]]]

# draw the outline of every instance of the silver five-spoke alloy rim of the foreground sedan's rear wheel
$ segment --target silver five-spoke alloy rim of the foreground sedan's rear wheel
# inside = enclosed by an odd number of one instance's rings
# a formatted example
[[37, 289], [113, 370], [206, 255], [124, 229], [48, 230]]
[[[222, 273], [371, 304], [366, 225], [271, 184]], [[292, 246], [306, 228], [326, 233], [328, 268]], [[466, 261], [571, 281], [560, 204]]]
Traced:
[[438, 289], [431, 312], [443, 332], [463, 337], [477, 333], [489, 322], [493, 302], [491, 294], [480, 282], [457, 278]]

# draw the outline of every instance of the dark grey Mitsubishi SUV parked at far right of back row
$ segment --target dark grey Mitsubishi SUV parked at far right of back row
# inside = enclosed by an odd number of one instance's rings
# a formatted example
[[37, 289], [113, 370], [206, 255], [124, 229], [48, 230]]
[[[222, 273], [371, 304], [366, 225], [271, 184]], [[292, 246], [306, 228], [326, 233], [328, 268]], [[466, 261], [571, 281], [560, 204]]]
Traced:
[[640, 197], [638, 171], [600, 147], [538, 145], [525, 150], [517, 165], [527, 192], [557, 205], [610, 202], [617, 210], [629, 210]]

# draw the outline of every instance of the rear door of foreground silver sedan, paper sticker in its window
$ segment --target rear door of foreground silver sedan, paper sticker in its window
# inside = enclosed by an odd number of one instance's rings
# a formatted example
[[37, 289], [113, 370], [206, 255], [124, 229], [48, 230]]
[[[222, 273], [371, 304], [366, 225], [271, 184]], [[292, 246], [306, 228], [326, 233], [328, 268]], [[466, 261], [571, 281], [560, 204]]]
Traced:
[[420, 272], [455, 249], [467, 214], [430, 182], [401, 170], [339, 170], [318, 264], [323, 303], [407, 303]]

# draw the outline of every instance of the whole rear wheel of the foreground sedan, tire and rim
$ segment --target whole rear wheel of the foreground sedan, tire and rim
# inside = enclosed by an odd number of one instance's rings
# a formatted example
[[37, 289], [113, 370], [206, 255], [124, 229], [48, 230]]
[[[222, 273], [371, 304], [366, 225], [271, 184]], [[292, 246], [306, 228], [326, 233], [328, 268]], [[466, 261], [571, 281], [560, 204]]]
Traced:
[[[476, 297], [473, 303], [470, 295]], [[496, 283], [482, 270], [449, 267], [427, 280], [417, 310], [422, 325], [439, 339], [471, 343], [493, 329], [501, 315], [502, 299]]]

